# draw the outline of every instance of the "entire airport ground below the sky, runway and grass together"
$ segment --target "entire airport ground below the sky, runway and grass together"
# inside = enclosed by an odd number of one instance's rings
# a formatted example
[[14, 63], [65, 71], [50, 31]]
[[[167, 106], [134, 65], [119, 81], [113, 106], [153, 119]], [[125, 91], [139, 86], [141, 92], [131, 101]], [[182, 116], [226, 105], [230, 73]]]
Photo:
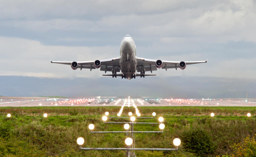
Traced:
[[[251, 151], [247, 149], [249, 146], [246, 144], [256, 147], [255, 141], [253, 143], [256, 133], [254, 99], [246, 102], [245, 99], [182, 101], [182, 99], [143, 98], [139, 99], [141, 101], [139, 102], [130, 98], [130, 103], [129, 98], [89, 100], [0, 97], [0, 99], [2, 99], [0, 105], [3, 105], [0, 107], [0, 156], [123, 157], [124, 151], [79, 150], [76, 139], [78, 137], [85, 139], [83, 147], [125, 148], [124, 133], [92, 134], [88, 129], [89, 124], [94, 124], [94, 131], [125, 131], [123, 124], [106, 124], [101, 119], [106, 111], [110, 113], [108, 117], [117, 117], [124, 104], [121, 114], [123, 117], [128, 117], [128, 112], [133, 112], [133, 115], [138, 117], [135, 114], [136, 108], [141, 114], [140, 117], [153, 117], [152, 112], [156, 112], [155, 118], [136, 119], [136, 122], [159, 123], [158, 117], [164, 117], [163, 133], [136, 134], [136, 148], [175, 148], [172, 144], [173, 139], [180, 138], [182, 141], [178, 151], [136, 151], [138, 157], [238, 156], [237, 152], [243, 156], [248, 153], [247, 150]], [[43, 117], [44, 113], [47, 113], [48, 117]], [[211, 113], [215, 113], [215, 116], [211, 117]], [[247, 113], [251, 116], [247, 117]], [[7, 114], [11, 114], [11, 117], [7, 117]], [[108, 118], [107, 121], [129, 120]], [[134, 124], [134, 127], [136, 131], [160, 131], [158, 125], [154, 124]], [[199, 140], [203, 142], [202, 147], [194, 145], [192, 149], [189, 148], [191, 145], [185, 141], [190, 135], [203, 138]], [[248, 140], [244, 141], [247, 138]], [[241, 144], [245, 149], [237, 151]], [[256, 153], [255, 149], [251, 152], [253, 151]]]

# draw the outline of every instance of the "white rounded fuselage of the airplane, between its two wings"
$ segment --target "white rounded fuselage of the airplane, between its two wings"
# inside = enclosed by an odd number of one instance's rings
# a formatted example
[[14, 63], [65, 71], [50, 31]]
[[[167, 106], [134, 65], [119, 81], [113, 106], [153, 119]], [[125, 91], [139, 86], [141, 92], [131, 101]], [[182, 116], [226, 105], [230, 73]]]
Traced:
[[126, 35], [120, 45], [120, 70], [127, 79], [137, 72], [136, 46], [131, 36]]

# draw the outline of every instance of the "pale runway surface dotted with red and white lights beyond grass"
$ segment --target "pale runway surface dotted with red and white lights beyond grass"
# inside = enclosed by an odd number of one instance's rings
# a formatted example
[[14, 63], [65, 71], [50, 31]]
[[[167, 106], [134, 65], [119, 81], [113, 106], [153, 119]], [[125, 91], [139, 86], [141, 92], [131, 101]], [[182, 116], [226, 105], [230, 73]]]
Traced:
[[256, 99], [0, 97], [0, 107], [32, 106], [256, 106]]

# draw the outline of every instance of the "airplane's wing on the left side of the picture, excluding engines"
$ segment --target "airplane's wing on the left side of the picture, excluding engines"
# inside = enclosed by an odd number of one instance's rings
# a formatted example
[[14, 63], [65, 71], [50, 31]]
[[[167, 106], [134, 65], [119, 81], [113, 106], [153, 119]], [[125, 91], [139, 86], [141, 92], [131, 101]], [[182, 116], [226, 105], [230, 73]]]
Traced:
[[[112, 58], [112, 59], [106, 59], [106, 60], [99, 60], [100, 61], [100, 70], [101, 71], [112, 71], [113, 67], [115, 66], [115, 70], [117, 72], [120, 72], [120, 58], [121, 57], [117, 57], [117, 58]], [[94, 62], [95, 61], [78, 61], [78, 67], [81, 70], [82, 69], [96, 69], [94, 66]], [[66, 64], [66, 65], [70, 65], [73, 63], [71, 61], [51, 61], [51, 63], [58, 63], [58, 64]]]

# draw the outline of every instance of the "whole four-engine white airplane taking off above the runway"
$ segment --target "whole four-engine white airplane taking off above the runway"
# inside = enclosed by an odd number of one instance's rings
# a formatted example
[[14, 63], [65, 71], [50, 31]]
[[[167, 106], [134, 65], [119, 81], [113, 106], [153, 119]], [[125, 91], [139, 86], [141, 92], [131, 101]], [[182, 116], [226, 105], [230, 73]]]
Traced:
[[[208, 60], [208, 59], [207, 59]], [[112, 76], [112, 78], [117, 78], [121, 76], [122, 79], [132, 79], [136, 76], [141, 78], [145, 76], [156, 76], [154, 74], [146, 74], [145, 72], [159, 69], [170, 69], [178, 68], [184, 70], [187, 65], [207, 63], [206, 61], [162, 61], [162, 60], [151, 60], [146, 58], [139, 58], [136, 56], [136, 45], [134, 40], [130, 35], [126, 35], [120, 45], [120, 57], [111, 58], [106, 60], [95, 60], [95, 61], [51, 61], [51, 63], [67, 64], [71, 65], [73, 70], [78, 68], [82, 69], [98, 69], [101, 71], [112, 72], [112, 74], [107, 74], [103, 76]], [[117, 73], [121, 72], [121, 73]], [[140, 73], [137, 73], [140, 72]]]

